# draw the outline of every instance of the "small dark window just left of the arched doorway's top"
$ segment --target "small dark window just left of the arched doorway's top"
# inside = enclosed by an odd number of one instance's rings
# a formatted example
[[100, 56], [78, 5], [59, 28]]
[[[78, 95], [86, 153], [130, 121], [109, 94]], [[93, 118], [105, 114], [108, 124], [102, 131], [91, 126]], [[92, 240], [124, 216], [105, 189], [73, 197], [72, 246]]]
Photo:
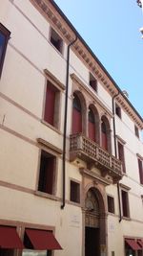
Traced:
[[71, 180], [71, 201], [80, 202], [80, 184]]

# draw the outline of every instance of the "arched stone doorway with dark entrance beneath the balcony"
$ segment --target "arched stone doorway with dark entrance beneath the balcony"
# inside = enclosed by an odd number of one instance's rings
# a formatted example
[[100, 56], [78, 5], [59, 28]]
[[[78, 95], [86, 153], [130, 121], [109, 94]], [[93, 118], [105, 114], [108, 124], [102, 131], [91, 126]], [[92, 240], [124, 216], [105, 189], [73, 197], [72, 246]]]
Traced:
[[[106, 248], [105, 206], [100, 192], [92, 187], [85, 198], [85, 256], [100, 256]], [[101, 251], [102, 250], [102, 251]]]

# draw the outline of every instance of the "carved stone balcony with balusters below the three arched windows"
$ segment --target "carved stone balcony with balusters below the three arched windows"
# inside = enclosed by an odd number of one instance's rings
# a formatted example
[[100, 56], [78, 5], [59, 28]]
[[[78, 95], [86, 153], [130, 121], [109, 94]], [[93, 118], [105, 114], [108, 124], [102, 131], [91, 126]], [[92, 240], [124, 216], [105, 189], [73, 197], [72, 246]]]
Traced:
[[75, 158], [87, 162], [88, 169], [98, 168], [102, 176], [111, 175], [114, 183], [122, 178], [121, 161], [81, 133], [70, 136], [70, 159]]

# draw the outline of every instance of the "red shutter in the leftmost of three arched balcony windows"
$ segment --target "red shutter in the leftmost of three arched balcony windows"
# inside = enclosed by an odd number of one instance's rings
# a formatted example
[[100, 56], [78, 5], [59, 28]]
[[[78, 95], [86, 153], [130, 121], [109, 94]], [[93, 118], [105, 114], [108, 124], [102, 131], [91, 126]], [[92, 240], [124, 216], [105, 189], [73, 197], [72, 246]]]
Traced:
[[82, 132], [82, 115], [76, 108], [72, 108], [72, 133]]

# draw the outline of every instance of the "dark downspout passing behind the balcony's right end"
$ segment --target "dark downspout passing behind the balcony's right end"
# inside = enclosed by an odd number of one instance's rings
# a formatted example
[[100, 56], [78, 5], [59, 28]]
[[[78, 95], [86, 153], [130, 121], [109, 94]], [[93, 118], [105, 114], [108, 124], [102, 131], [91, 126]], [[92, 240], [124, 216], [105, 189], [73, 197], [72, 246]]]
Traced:
[[[115, 138], [115, 119], [114, 119], [114, 99], [119, 95], [119, 91], [117, 94], [115, 94], [112, 97], [112, 114], [113, 114], [113, 139], [114, 139], [114, 154], [115, 157], [117, 157], [117, 151], [116, 151], [116, 138]], [[119, 182], [117, 182], [117, 195], [118, 195], [118, 205], [119, 205], [119, 222], [122, 221], [122, 215], [121, 215], [121, 199], [120, 199], [120, 188], [119, 188]]]

